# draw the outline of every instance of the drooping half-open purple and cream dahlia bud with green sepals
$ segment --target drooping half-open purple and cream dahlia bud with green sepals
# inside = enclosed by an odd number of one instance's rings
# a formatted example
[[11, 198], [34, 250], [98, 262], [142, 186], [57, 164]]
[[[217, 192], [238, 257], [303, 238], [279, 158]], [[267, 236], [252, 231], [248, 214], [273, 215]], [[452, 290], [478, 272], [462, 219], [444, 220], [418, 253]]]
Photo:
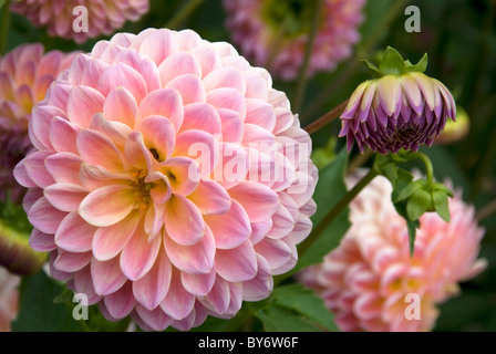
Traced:
[[427, 55], [412, 65], [388, 48], [379, 69], [364, 63], [376, 79], [356, 87], [341, 115], [340, 137], [347, 136], [348, 150], [356, 140], [362, 153], [365, 145], [383, 155], [416, 152], [421, 145], [432, 145], [447, 118], [455, 121], [450, 91], [423, 74]]

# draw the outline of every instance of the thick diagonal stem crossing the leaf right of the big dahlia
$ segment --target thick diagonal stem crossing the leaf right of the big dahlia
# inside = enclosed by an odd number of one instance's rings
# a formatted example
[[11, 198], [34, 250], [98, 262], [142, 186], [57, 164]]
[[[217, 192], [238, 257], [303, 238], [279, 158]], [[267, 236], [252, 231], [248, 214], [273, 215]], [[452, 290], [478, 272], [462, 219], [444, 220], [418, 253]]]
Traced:
[[363, 176], [359, 183], [349, 190], [339, 201], [338, 204], [323, 217], [323, 219], [316, 226], [309, 237], [304, 240], [303, 243], [298, 248], [298, 252], [301, 256], [310, 248], [310, 246], [321, 236], [326, 229], [334, 221], [341, 212], [349, 206], [351, 200], [354, 199], [359, 195], [359, 192], [369, 185], [372, 179], [374, 179], [379, 175], [375, 168], [371, 168], [369, 173]]

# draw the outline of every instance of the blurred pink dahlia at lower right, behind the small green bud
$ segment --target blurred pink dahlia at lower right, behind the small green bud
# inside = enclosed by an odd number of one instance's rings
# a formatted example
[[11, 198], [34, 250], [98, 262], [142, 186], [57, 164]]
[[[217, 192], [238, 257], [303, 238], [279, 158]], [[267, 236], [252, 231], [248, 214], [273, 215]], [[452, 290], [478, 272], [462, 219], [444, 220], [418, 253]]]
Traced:
[[301, 273], [342, 331], [430, 331], [436, 304], [485, 267], [476, 260], [484, 230], [459, 195], [450, 199], [450, 223], [435, 212], [421, 217], [410, 257], [406, 225], [391, 190], [385, 177], [375, 177], [352, 201], [352, 225], [341, 244]]

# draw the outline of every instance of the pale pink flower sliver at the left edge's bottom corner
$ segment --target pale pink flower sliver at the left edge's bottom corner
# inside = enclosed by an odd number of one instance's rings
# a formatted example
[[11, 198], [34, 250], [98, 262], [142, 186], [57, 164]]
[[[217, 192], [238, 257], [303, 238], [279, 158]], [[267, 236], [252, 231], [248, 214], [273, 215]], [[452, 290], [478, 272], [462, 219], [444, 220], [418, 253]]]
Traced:
[[20, 280], [0, 267], [0, 332], [10, 332], [10, 323], [18, 315]]

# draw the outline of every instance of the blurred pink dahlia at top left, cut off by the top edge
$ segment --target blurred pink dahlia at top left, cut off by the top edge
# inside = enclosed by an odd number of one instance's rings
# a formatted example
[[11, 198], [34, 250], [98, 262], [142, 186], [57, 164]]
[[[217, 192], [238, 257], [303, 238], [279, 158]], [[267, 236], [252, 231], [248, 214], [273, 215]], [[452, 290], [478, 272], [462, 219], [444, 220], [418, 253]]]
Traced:
[[149, 0], [18, 0], [12, 1], [10, 9], [35, 27], [48, 27], [51, 37], [83, 43], [112, 34], [127, 20], [137, 21], [148, 12]]

